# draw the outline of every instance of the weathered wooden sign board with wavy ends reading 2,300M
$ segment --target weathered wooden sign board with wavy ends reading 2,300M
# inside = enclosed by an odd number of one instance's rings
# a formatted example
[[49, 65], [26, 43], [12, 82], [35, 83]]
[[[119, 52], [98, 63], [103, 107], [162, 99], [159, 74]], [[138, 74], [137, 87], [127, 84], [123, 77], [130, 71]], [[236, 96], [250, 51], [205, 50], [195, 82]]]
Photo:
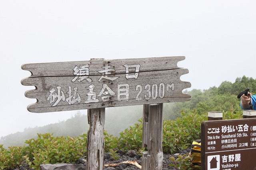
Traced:
[[188, 69], [177, 66], [179, 57], [140, 59], [91, 59], [56, 63], [31, 63], [22, 69], [31, 76], [22, 85], [37, 102], [34, 113], [188, 101], [182, 90], [191, 87], [180, 76]]

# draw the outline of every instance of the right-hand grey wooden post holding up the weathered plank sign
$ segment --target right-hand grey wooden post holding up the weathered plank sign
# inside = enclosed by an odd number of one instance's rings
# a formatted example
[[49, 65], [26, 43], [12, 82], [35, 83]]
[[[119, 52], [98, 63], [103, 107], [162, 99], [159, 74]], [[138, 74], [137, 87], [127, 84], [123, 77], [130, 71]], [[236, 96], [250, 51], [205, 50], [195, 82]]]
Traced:
[[[147, 112], [146, 107], [144, 105], [144, 115]], [[148, 135], [142, 137], [144, 138], [143, 145], [147, 145], [148, 152], [143, 153], [142, 170], [162, 170], [164, 159], [162, 150], [163, 103], [149, 105], [148, 111], [148, 130], [143, 131]], [[144, 128], [146, 129], [146, 126]]]

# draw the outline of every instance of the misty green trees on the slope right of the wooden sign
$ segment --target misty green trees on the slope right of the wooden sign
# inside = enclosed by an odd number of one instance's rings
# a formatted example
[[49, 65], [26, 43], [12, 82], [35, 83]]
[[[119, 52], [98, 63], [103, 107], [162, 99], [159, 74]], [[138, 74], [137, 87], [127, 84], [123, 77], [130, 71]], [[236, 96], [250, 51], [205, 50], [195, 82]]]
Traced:
[[236, 78], [234, 83], [223, 81], [219, 87], [214, 86], [204, 90], [193, 89], [192, 91], [184, 91], [184, 93], [191, 95], [191, 100], [165, 103], [163, 117], [164, 119], [175, 120], [182, 109], [196, 109], [198, 114], [206, 114], [209, 111], [242, 111], [240, 99], [237, 98], [237, 95], [247, 87], [250, 88], [252, 94], [255, 94], [256, 79], [243, 76], [242, 78]]

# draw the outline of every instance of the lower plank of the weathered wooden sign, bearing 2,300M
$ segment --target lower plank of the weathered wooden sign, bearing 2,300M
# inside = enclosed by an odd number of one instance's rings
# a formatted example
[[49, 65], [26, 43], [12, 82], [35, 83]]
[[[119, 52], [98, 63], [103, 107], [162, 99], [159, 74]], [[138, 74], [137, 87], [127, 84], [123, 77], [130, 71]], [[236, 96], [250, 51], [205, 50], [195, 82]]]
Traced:
[[[36, 98], [28, 111], [35, 113], [118, 107], [152, 103], [188, 101], [190, 95], [182, 93], [190, 87], [179, 77], [187, 69], [151, 71], [140, 73], [141, 79], [127, 81], [124, 75], [118, 82], [70, 83], [66, 77], [36, 77], [23, 79], [23, 85], [35, 85], [25, 96]], [[152, 76], [152, 77], [151, 77]], [[92, 79], [99, 79], [93, 76]], [[95, 84], [95, 85], [94, 85]]]

